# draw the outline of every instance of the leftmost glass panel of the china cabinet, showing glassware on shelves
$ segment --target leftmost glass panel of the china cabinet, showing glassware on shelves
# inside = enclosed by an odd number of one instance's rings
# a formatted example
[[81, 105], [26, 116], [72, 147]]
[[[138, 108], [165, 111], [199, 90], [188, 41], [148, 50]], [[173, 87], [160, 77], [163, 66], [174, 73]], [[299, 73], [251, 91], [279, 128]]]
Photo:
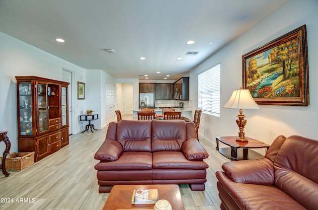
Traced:
[[20, 135], [32, 135], [31, 81], [19, 82]]

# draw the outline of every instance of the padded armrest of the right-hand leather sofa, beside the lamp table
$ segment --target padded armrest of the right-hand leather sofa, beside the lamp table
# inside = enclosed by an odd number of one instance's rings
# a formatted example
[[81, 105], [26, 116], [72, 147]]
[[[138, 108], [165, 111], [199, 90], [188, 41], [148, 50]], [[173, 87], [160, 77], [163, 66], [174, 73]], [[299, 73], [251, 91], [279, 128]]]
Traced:
[[222, 169], [237, 183], [272, 185], [275, 181], [273, 162], [267, 158], [226, 162]]

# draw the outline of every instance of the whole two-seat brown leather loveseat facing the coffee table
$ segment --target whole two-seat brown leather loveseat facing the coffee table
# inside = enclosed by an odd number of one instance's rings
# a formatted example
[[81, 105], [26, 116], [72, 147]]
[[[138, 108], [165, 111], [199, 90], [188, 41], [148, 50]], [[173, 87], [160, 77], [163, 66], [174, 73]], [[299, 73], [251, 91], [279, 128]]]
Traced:
[[190, 184], [204, 190], [208, 153], [196, 139], [193, 122], [120, 120], [109, 124], [95, 153], [99, 192], [113, 185]]

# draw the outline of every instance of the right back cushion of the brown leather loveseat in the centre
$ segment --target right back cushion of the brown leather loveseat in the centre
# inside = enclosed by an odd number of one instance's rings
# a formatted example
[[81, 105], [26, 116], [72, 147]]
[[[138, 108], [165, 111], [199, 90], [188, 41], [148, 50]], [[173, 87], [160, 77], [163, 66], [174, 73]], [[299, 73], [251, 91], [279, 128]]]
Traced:
[[152, 151], [181, 151], [187, 131], [184, 120], [153, 120]]

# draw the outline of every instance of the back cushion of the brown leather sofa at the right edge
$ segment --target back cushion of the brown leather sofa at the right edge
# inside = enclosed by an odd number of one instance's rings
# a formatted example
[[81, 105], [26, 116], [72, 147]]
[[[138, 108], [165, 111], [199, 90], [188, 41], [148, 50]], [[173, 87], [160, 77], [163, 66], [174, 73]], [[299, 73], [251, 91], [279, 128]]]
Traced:
[[274, 162], [275, 185], [307, 209], [317, 209], [318, 141], [287, 138]]

